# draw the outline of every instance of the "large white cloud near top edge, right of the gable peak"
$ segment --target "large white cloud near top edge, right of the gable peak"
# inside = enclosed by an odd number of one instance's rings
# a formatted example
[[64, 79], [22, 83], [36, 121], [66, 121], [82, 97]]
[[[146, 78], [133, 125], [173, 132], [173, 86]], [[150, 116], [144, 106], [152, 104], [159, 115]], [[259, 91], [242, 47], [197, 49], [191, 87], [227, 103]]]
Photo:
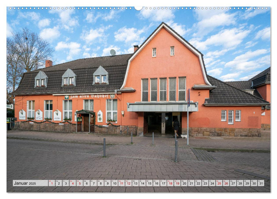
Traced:
[[229, 26], [236, 24], [235, 13], [217, 13], [214, 15], [206, 16], [202, 18], [195, 26], [198, 31], [193, 34], [194, 37], [204, 36], [214, 30], [218, 26]]

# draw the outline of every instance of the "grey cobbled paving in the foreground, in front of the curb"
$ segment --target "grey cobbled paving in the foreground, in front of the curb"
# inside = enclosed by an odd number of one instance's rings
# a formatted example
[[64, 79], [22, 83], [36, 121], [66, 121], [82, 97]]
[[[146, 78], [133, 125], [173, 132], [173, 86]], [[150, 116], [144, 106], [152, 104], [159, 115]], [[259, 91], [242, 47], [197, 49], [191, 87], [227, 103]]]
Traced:
[[[270, 153], [7, 139], [7, 192], [270, 192]], [[249, 175], [249, 172], [251, 172]], [[260, 174], [260, 176], [258, 175]], [[265, 178], [262, 178], [265, 176]], [[12, 180], [263, 179], [262, 187], [26, 187]]]

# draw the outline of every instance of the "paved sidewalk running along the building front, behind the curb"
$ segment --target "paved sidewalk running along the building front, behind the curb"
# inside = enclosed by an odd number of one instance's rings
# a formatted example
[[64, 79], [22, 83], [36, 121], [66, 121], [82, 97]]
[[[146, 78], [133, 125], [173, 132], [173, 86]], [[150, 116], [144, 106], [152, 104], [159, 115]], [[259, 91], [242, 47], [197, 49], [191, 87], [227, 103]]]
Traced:
[[[38, 139], [45, 141], [65, 141], [87, 144], [102, 144], [106, 138], [106, 144], [130, 144], [131, 136], [126, 135], [103, 135], [82, 133], [59, 133], [42, 131], [7, 131], [7, 138]], [[187, 139], [177, 139], [178, 147], [188, 148], [219, 148], [219, 149], [252, 149], [270, 150], [270, 137], [191, 137], [189, 146]], [[133, 136], [133, 145], [152, 145], [151, 137]], [[175, 138], [154, 137], [155, 146], [175, 146]]]

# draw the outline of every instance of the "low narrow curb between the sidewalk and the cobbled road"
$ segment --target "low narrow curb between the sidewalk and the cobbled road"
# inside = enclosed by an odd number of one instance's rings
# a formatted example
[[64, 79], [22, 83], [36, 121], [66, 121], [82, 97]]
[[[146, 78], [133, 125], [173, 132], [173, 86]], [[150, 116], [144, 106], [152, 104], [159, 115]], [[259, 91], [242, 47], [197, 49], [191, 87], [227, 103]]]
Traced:
[[[103, 145], [103, 143], [101, 143], [101, 142], [83, 142], [83, 141], [74, 141], [74, 140], [53, 140], [53, 139], [25, 138], [25, 137], [13, 137], [13, 136], [7, 136], [7, 139], [37, 140], [37, 141], [48, 141], [48, 142], [65, 142], [65, 143], [76, 143], [76, 144]], [[106, 145], [120, 145], [120, 144], [106, 143]], [[130, 144], [121, 144], [121, 145], [130, 145]], [[145, 145], [143, 145], [143, 146], [145, 146]], [[146, 145], [146, 146], [153, 146], [153, 145]], [[205, 151], [208, 151], [208, 152], [229, 151], [229, 152], [262, 152], [262, 153], [270, 153], [270, 150], [266, 150], [266, 149], [201, 148], [201, 147], [182, 147], [182, 146], [180, 148], [193, 148], [193, 149], [205, 150]]]

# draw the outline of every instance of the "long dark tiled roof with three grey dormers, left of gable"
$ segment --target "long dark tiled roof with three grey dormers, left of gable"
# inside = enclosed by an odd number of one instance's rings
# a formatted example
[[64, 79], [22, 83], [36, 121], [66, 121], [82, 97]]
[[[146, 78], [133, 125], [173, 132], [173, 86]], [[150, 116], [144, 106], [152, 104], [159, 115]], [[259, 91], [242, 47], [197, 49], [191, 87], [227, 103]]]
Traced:
[[[55, 66], [26, 72], [14, 95], [108, 92], [119, 89], [124, 81], [128, 59], [132, 54], [78, 59]], [[109, 84], [93, 85], [93, 73], [102, 66], [109, 74]], [[62, 75], [67, 69], [76, 74], [76, 86], [62, 86]], [[39, 71], [48, 76], [47, 87], [34, 88]]]

